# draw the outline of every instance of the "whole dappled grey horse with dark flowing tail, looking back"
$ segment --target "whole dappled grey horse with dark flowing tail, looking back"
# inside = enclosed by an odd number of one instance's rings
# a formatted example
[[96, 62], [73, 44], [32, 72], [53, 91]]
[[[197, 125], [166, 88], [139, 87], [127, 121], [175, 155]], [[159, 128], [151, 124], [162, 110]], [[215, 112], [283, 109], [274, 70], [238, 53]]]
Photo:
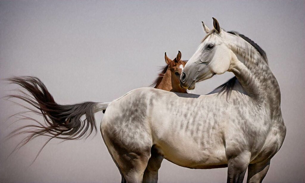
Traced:
[[[31, 94], [11, 97], [32, 104], [46, 121], [26, 126], [36, 130], [20, 146], [40, 135], [81, 138], [95, 128], [94, 113], [107, 109], [100, 129], [122, 182], [157, 182], [163, 158], [188, 168], [228, 167], [227, 182], [242, 182], [248, 168], [247, 182], [261, 182], [286, 134], [278, 82], [256, 43], [213, 20], [212, 30], [203, 24], [207, 36], [180, 78], [194, 89], [215, 74], [235, 74], [208, 95], [139, 88], [108, 103], [59, 105], [38, 78], [9, 79]], [[29, 132], [22, 129], [13, 134]]]

